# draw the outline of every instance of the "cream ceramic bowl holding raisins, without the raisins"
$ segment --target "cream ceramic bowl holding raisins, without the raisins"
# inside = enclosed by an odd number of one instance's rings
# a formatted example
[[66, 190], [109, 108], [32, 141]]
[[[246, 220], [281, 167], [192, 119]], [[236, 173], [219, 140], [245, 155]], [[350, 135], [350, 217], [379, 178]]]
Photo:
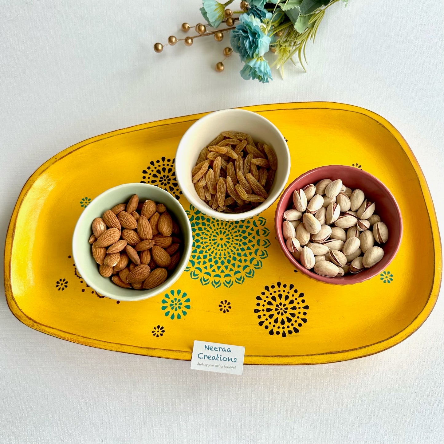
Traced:
[[[192, 182], [191, 170], [199, 153], [223, 131], [242, 131], [250, 134], [254, 141], [263, 142], [274, 148], [277, 170], [268, 198], [245, 213], [219, 213], [199, 198]], [[188, 201], [202, 213], [223, 220], [242, 220], [258, 215], [272, 205], [287, 183], [290, 174], [290, 153], [281, 132], [262, 115], [242, 109], [215, 111], [194, 122], [182, 136], [176, 151], [176, 178]]]

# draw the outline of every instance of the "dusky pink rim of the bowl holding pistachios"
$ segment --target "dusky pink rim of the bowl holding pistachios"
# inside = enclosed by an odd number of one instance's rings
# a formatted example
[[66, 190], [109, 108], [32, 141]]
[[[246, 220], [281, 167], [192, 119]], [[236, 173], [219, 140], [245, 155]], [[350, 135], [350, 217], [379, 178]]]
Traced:
[[[284, 207], [284, 206], [285, 207], [288, 206], [288, 202], [286, 203], [286, 205], [284, 205], [284, 200], [287, 200], [287, 196], [288, 196], [290, 190], [293, 189], [293, 186], [294, 186], [295, 182], [300, 181], [301, 179], [305, 178], [305, 176], [308, 176], [309, 174], [311, 174], [311, 173], [313, 173], [315, 171], [328, 170], [329, 168], [332, 168], [332, 167], [340, 167], [340, 168], [344, 168], [346, 170], [353, 170], [353, 172], [359, 171], [358, 174], [362, 174], [363, 176], [367, 176], [367, 177], [372, 178], [376, 182], [379, 182], [381, 188], [383, 190], [385, 190], [387, 196], [392, 200], [392, 202], [393, 202], [393, 204], [395, 206], [395, 209], [396, 209], [396, 213], [398, 214], [399, 227], [400, 227], [399, 238], [396, 241], [396, 246], [392, 250], [390, 255], [388, 256], [388, 258], [389, 258], [388, 259], [388, 261], [389, 261], [388, 264], [390, 262], [392, 262], [393, 258], [396, 256], [396, 254], [397, 254], [397, 252], [399, 250], [399, 247], [401, 245], [402, 234], [403, 234], [402, 214], [401, 214], [401, 211], [399, 209], [398, 202], [396, 202], [396, 199], [393, 196], [392, 192], [387, 188], [387, 186], [385, 186], [385, 184], [380, 179], [378, 179], [373, 174], [370, 174], [368, 171], [357, 170], [357, 168], [354, 168], [353, 166], [349, 166], [349, 165], [323, 165], [323, 166], [317, 166], [316, 168], [313, 168], [312, 170], [306, 171], [305, 173], [303, 173], [300, 176], [298, 176], [297, 178], [295, 178], [293, 180], [293, 182], [291, 182], [289, 184], [289, 186], [287, 186], [285, 188], [284, 192], [281, 195], [281, 198], [279, 199], [279, 202], [277, 203], [276, 211], [275, 211], [275, 214], [274, 214], [274, 229], [275, 229], [275, 232], [276, 232], [276, 239], [277, 239], [277, 242], [278, 242], [279, 246], [281, 247], [281, 250], [285, 254], [286, 258], [297, 268], [298, 271], [300, 271], [301, 273], [305, 274], [306, 276], [311, 277], [312, 279], [315, 279], [316, 281], [324, 282], [324, 283], [327, 283], [327, 284], [333, 284], [333, 285], [353, 285], [353, 284], [359, 284], [359, 283], [367, 281], [367, 280], [371, 279], [372, 277], [375, 277], [377, 274], [381, 273], [381, 271], [384, 270], [385, 266], [382, 266], [382, 267], [379, 266], [378, 267], [377, 264], [376, 264], [376, 266], [371, 267], [372, 269], [374, 268], [374, 270], [371, 273], [369, 273], [367, 276], [361, 277], [361, 278], [359, 278], [359, 276], [361, 275], [360, 273], [353, 274], [353, 275], [347, 276], [345, 278], [320, 276], [319, 274], [316, 274], [316, 273], [314, 273], [311, 270], [307, 270], [295, 258], [293, 258], [293, 256], [287, 250], [287, 248], [285, 246], [285, 239], [284, 239], [284, 236], [282, 234], [282, 220], [283, 220], [283, 218], [282, 217], [280, 217], [280, 218], [278, 217], [278, 214], [279, 214], [279, 211], [281, 210], [281, 208]], [[308, 185], [308, 183], [307, 183], [307, 185]]]

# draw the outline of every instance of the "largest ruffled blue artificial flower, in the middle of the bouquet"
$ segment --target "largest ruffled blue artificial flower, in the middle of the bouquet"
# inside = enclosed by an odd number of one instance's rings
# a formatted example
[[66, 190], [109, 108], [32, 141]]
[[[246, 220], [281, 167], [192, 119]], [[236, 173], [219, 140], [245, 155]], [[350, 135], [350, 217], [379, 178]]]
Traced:
[[239, 24], [230, 35], [231, 46], [242, 62], [263, 56], [268, 52], [270, 40], [261, 29], [261, 20], [248, 14], [239, 17]]

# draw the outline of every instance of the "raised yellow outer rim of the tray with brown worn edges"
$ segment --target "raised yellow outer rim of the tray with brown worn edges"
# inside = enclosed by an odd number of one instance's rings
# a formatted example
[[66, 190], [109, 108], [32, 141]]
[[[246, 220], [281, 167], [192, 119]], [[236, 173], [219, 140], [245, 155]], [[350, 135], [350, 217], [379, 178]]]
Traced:
[[[435, 254], [435, 266], [433, 270], [433, 281], [432, 287], [428, 296], [428, 299], [424, 305], [424, 308], [421, 312], [411, 321], [409, 325], [407, 325], [400, 332], [392, 335], [389, 338], [386, 338], [382, 341], [379, 341], [374, 344], [364, 345], [362, 347], [358, 347], [355, 349], [349, 350], [341, 350], [338, 352], [326, 352], [326, 353], [317, 353], [312, 355], [285, 355], [285, 356], [277, 356], [277, 355], [245, 355], [245, 364], [256, 364], [256, 365], [305, 365], [305, 364], [325, 364], [331, 362], [339, 362], [339, 361], [347, 361], [350, 359], [357, 359], [360, 357], [369, 356], [375, 353], [379, 353], [386, 349], [393, 347], [394, 345], [399, 344], [401, 341], [404, 341], [407, 337], [412, 335], [427, 319], [427, 317], [432, 312], [436, 300], [438, 298], [440, 292], [441, 278], [442, 278], [442, 250], [441, 250], [441, 240], [438, 222], [436, 218], [435, 207], [432, 202], [432, 197], [430, 194], [430, 190], [428, 188], [428, 184], [425, 180], [424, 174], [420, 168], [419, 163], [416, 160], [415, 155], [413, 154], [411, 148], [409, 147], [407, 141], [400, 134], [400, 132], [386, 119], [381, 117], [380, 115], [374, 113], [373, 111], [369, 111], [362, 107], [357, 107], [355, 105], [349, 105], [345, 103], [336, 103], [336, 102], [289, 102], [289, 103], [274, 103], [268, 105], [254, 105], [249, 107], [240, 107], [241, 109], [247, 109], [254, 112], [266, 112], [266, 111], [281, 111], [281, 110], [297, 110], [297, 109], [331, 109], [338, 111], [350, 111], [356, 112], [361, 115], [365, 115], [370, 119], [375, 120], [378, 124], [385, 127], [387, 131], [389, 131], [396, 141], [399, 143], [400, 147], [403, 149], [405, 154], [407, 155], [410, 163], [412, 164], [413, 169], [416, 172], [418, 180], [420, 182], [420, 186], [422, 188], [422, 194], [424, 196], [424, 202], [428, 208], [428, 218], [430, 221], [430, 226], [432, 228], [432, 241], [433, 241], [433, 250]], [[24, 198], [28, 194], [28, 191], [36, 182], [37, 178], [47, 170], [54, 163], [63, 159], [67, 155], [79, 150], [82, 147], [85, 147], [91, 143], [95, 143], [99, 140], [108, 139], [111, 137], [115, 137], [117, 135], [121, 135], [127, 132], [134, 131], [142, 131], [145, 129], [149, 129], [152, 127], [161, 127], [174, 123], [186, 123], [190, 121], [194, 121], [199, 119], [203, 115], [208, 114], [199, 113], [192, 115], [185, 115], [181, 117], [174, 117], [170, 119], [157, 120], [149, 123], [142, 123], [139, 125], [122, 128], [119, 130], [111, 131], [108, 133], [104, 133], [102, 135], [97, 135], [88, 139], [85, 139], [79, 143], [72, 145], [60, 151], [58, 154], [53, 156], [51, 159], [48, 159], [45, 163], [43, 163], [36, 171], [28, 178], [23, 189], [20, 191], [20, 195], [17, 199], [16, 205], [12, 212], [11, 220], [9, 222], [8, 231], [5, 240], [5, 250], [4, 250], [4, 287], [5, 287], [5, 295], [8, 303], [8, 307], [11, 310], [12, 314], [22, 323], [27, 325], [28, 327], [40, 331], [42, 333], [49, 334], [51, 336], [58, 337], [59, 339], [64, 339], [67, 341], [75, 342], [82, 345], [87, 345], [90, 347], [106, 349], [111, 351], [118, 351], [123, 353], [132, 353], [139, 354], [143, 356], [151, 356], [151, 357], [163, 357], [168, 359], [178, 359], [184, 361], [190, 361], [191, 352], [181, 351], [181, 350], [171, 350], [171, 349], [159, 349], [152, 347], [141, 347], [129, 344], [119, 344], [115, 342], [102, 341], [99, 339], [93, 339], [85, 336], [81, 336], [78, 334], [70, 333], [64, 330], [56, 329], [51, 327], [50, 325], [44, 325], [39, 323], [38, 321], [29, 317], [18, 305], [14, 294], [12, 292], [11, 286], [11, 257], [12, 257], [12, 245], [14, 242], [15, 228], [16, 228], [16, 220], [18, 213], [20, 211], [21, 204], [24, 201]]]

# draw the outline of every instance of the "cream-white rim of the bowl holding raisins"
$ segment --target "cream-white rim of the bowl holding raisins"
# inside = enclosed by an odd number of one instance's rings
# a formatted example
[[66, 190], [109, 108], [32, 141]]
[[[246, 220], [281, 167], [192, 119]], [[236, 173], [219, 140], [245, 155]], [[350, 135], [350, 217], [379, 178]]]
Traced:
[[[203, 205], [201, 202], [198, 202], [196, 199], [194, 199], [193, 196], [191, 196], [188, 193], [187, 187], [183, 185], [183, 182], [181, 180], [181, 175], [180, 172], [178, 173], [178, 171], [181, 171], [180, 169], [178, 169], [176, 167], [176, 179], [179, 185], [180, 190], [182, 190], [183, 195], [185, 196], [185, 198], [199, 211], [201, 211], [203, 214], [206, 214], [207, 216], [210, 216], [212, 218], [215, 219], [220, 219], [220, 220], [226, 220], [226, 221], [237, 221], [237, 220], [244, 220], [244, 219], [248, 219], [248, 218], [252, 218], [254, 216], [257, 216], [258, 214], [262, 213], [263, 211], [265, 211], [267, 208], [269, 208], [270, 206], [272, 206], [274, 204], [274, 202], [277, 201], [277, 199], [279, 198], [280, 194], [282, 193], [282, 191], [285, 188], [285, 185], [288, 181], [289, 175], [290, 175], [290, 167], [291, 167], [291, 156], [290, 156], [290, 150], [288, 148], [287, 142], [285, 141], [285, 137], [282, 135], [281, 131], [279, 130], [279, 128], [276, 127], [276, 125], [274, 125], [274, 123], [270, 122], [270, 120], [268, 120], [266, 117], [264, 117], [263, 115], [260, 115], [254, 111], [249, 111], [249, 110], [245, 110], [242, 108], [227, 108], [227, 109], [223, 109], [223, 110], [219, 110], [219, 111], [212, 111], [209, 112], [208, 114], [202, 116], [200, 119], [197, 119], [186, 131], [185, 133], [182, 135], [178, 146], [177, 146], [177, 150], [176, 150], [176, 154], [175, 154], [175, 164], [177, 165], [177, 159], [182, 155], [182, 151], [186, 150], [186, 146], [185, 146], [185, 139], [187, 137], [190, 136], [190, 134], [195, 131], [196, 129], [196, 125], [202, 125], [206, 122], [206, 120], [208, 119], [213, 119], [214, 116], [218, 116], [218, 115], [223, 115], [223, 114], [229, 114], [229, 113], [240, 113], [240, 114], [245, 114], [245, 115], [254, 115], [255, 119], [258, 119], [262, 122], [265, 122], [268, 126], [270, 126], [270, 128], [274, 131], [276, 131], [277, 137], [279, 139], [281, 139], [281, 142], [284, 144], [284, 146], [286, 147], [285, 150], [285, 155], [286, 155], [286, 159], [285, 159], [285, 163], [284, 163], [284, 172], [283, 172], [283, 176], [282, 176], [282, 184], [281, 186], [276, 187], [276, 189], [273, 191], [273, 194], [276, 196], [274, 199], [270, 199], [270, 196], [268, 198], [266, 198], [266, 200], [264, 202], [262, 202], [260, 205], [254, 207], [253, 209], [246, 211], [244, 213], [219, 213], [216, 210], [213, 210], [212, 208], [210, 208], [208, 205]], [[179, 155], [178, 155], [179, 154]], [[285, 180], [283, 180], [285, 177]]]

